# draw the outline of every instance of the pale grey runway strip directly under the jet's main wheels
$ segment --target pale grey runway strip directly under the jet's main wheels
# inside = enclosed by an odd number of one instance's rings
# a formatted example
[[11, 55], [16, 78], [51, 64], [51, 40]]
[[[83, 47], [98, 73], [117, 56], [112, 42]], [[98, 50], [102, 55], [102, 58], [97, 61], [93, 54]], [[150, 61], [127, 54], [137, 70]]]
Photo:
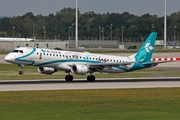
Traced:
[[85, 89], [126, 89], [126, 88], [170, 88], [180, 87], [180, 78], [126, 78], [98, 79], [95, 82], [76, 79], [64, 80], [7, 80], [0, 81], [0, 91], [33, 90], [85, 90]]

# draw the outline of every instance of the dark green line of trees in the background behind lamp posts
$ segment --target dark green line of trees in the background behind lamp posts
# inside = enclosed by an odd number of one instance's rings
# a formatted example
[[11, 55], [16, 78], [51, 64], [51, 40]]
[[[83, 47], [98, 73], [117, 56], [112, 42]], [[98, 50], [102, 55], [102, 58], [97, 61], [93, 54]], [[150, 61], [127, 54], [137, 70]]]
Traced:
[[[144, 14], [137, 16], [128, 12], [81, 14], [78, 12], [78, 38], [88, 40], [123, 37], [147, 37], [150, 32], [158, 32], [163, 38], [164, 17]], [[167, 16], [167, 36], [180, 36], [180, 12]], [[75, 39], [75, 8], [63, 8], [48, 16], [33, 15], [0, 18], [0, 37], [36, 37], [36, 39]]]

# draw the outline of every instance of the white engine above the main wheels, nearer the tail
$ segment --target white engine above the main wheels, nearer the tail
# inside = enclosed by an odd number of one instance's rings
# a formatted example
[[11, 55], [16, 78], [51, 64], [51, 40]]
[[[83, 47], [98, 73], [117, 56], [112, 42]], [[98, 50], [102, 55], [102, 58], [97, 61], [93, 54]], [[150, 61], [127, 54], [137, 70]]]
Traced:
[[71, 72], [74, 74], [85, 75], [88, 72], [88, 67], [86, 65], [73, 65], [71, 67]]

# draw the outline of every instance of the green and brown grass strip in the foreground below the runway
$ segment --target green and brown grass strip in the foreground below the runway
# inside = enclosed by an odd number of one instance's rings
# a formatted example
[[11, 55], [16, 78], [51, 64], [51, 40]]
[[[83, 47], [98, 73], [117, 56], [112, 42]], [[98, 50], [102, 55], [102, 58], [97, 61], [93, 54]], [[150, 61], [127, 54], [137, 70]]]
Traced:
[[179, 120], [180, 88], [0, 92], [2, 120]]

